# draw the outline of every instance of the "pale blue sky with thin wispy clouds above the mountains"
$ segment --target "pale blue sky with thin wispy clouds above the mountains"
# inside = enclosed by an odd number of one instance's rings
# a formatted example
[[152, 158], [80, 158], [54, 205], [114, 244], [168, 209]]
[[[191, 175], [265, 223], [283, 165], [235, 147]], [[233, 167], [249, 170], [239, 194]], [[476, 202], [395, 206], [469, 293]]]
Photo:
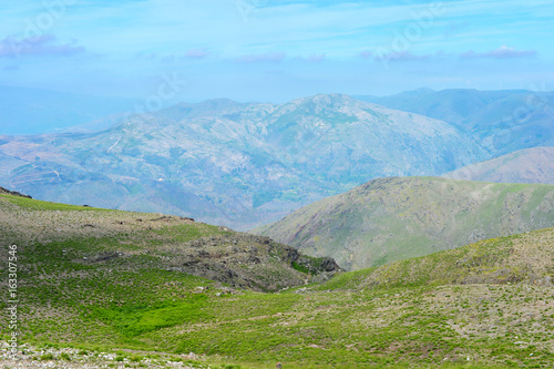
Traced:
[[6, 85], [147, 99], [178, 81], [164, 103], [554, 90], [544, 0], [20, 0], [0, 20]]

